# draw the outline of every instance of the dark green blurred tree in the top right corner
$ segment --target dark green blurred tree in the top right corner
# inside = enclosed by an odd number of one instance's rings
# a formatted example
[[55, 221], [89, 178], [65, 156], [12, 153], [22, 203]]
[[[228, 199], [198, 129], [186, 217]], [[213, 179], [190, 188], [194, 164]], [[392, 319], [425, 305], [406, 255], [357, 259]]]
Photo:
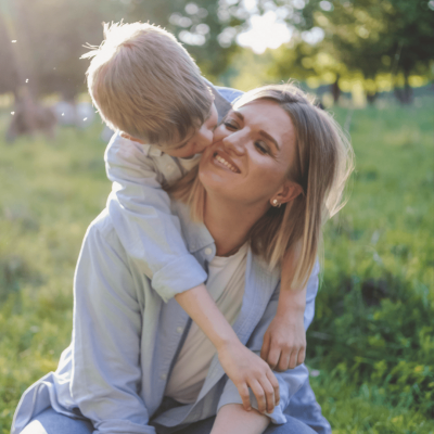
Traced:
[[410, 74], [429, 74], [434, 60], [434, 11], [426, 0], [311, 0], [304, 8], [305, 28], [324, 30], [324, 44], [348, 71], [360, 71], [367, 93], [376, 92], [381, 72], [404, 76], [401, 102], [410, 102]]

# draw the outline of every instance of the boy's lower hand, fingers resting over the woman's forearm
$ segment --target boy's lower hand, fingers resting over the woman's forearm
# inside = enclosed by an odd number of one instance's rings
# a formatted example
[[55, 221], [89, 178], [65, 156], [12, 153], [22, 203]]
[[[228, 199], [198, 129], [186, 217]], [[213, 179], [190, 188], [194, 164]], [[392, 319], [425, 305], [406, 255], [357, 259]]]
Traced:
[[270, 367], [255, 353], [246, 348], [240, 341], [222, 344], [218, 358], [240, 393], [245, 410], [251, 410], [248, 387], [254, 393], [258, 411], [271, 413], [279, 404], [279, 382]]

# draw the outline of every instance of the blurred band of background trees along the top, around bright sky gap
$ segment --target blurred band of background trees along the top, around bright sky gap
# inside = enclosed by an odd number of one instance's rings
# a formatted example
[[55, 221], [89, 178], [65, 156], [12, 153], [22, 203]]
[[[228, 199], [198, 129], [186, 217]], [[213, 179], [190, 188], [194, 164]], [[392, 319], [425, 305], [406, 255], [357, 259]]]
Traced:
[[[7, 1], [0, 0], [0, 62], [7, 65], [0, 92], [29, 79], [35, 93], [73, 98], [85, 88], [88, 63], [78, 60], [86, 51], [82, 46], [101, 42], [103, 21], [122, 18], [166, 27], [203, 74], [217, 81], [233, 69], [242, 52], [237, 35], [248, 27], [251, 14], [268, 11], [295, 30], [291, 42], [270, 56], [275, 78], [317, 77], [333, 84], [359, 73], [368, 95], [374, 95], [382, 90], [375, 77], [388, 74], [395, 87], [407, 87], [397, 91], [403, 101], [410, 97], [410, 74], [432, 79], [434, 11], [427, 0], [258, 0], [256, 11], [241, 0]], [[322, 31], [323, 40], [309, 39], [312, 30]], [[17, 40], [12, 51], [11, 39]]]

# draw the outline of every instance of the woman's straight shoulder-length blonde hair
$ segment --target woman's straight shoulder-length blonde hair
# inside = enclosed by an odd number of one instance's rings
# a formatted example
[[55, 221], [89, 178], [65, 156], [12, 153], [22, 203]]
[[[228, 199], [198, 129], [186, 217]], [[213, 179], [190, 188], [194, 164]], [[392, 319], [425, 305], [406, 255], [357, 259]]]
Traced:
[[[251, 90], [234, 104], [234, 110], [258, 100], [273, 101], [290, 116], [296, 131], [296, 158], [288, 178], [303, 193], [280, 208], [270, 207], [250, 231], [252, 251], [271, 268], [285, 255], [297, 264], [292, 289], [303, 288], [314, 268], [322, 239], [322, 224], [344, 205], [345, 183], [354, 168], [349, 140], [330, 114], [314, 105], [293, 85], [271, 85]], [[197, 168], [169, 190], [175, 199], [191, 206], [192, 217], [203, 220], [205, 189]]]

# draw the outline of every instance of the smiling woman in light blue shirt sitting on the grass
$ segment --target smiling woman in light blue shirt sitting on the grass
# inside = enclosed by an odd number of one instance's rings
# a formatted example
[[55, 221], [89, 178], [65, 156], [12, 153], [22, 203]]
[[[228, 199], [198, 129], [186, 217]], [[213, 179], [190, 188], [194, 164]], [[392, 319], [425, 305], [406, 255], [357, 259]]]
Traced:
[[[238, 101], [199, 176], [190, 173], [171, 192], [187, 245], [208, 270], [209, 292], [252, 352], [259, 353], [276, 314], [276, 265], [298, 245], [296, 276], [308, 280], [310, 323], [321, 224], [339, 208], [350, 159], [329, 115], [293, 87], [265, 87]], [[156, 295], [125, 255], [106, 213], [85, 238], [75, 306], [72, 345], [56, 373], [24, 394], [12, 434], [26, 425], [25, 434], [314, 432], [301, 422], [311, 416], [302, 406], [295, 418], [288, 416], [291, 397], [308, 386], [306, 368], [266, 379], [270, 396], [245, 411], [219, 363], [225, 352], [216, 355], [180, 306]], [[279, 401], [271, 396], [276, 381], [280, 403], [272, 413], [257, 411], [266, 398]], [[320, 413], [310, 419], [328, 432]]]

